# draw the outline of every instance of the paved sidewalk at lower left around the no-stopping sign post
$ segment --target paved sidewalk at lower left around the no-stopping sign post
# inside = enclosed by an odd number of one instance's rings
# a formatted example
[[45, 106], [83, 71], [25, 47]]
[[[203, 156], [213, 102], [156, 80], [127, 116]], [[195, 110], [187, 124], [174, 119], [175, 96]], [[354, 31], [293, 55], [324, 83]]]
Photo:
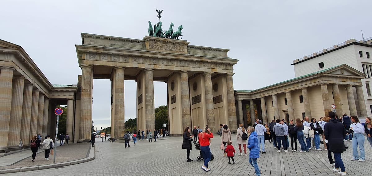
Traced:
[[[59, 142], [59, 141], [57, 141]], [[87, 157], [87, 152], [92, 144], [90, 143], [70, 143], [68, 146], [57, 146], [56, 163], [68, 162]], [[39, 149], [36, 154], [35, 162], [32, 162], [32, 151], [25, 150], [18, 153], [0, 157], [0, 170], [19, 167], [40, 166], [53, 163], [53, 156], [49, 160], [44, 160], [44, 150]]]

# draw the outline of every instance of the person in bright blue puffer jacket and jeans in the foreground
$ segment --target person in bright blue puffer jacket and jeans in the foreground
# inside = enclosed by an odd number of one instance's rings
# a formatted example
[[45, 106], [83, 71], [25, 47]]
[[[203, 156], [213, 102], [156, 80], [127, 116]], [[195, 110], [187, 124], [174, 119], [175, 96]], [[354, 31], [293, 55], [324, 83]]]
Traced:
[[254, 167], [256, 171], [256, 176], [261, 175], [260, 168], [258, 168], [257, 158], [260, 157], [260, 149], [258, 147], [258, 138], [257, 133], [254, 131], [253, 127], [248, 127], [248, 145], [247, 148], [249, 149], [249, 163]]

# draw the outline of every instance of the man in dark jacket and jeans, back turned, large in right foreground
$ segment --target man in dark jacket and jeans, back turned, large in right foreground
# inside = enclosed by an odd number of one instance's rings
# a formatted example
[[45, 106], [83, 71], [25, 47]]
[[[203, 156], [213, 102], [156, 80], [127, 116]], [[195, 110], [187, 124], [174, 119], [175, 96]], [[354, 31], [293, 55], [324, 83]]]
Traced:
[[329, 112], [328, 116], [331, 120], [324, 125], [324, 142], [329, 144], [328, 150], [334, 154], [334, 171], [341, 175], [346, 175], [345, 166], [341, 159], [341, 153], [346, 150], [343, 141], [346, 136], [344, 125], [336, 118], [336, 113]]

